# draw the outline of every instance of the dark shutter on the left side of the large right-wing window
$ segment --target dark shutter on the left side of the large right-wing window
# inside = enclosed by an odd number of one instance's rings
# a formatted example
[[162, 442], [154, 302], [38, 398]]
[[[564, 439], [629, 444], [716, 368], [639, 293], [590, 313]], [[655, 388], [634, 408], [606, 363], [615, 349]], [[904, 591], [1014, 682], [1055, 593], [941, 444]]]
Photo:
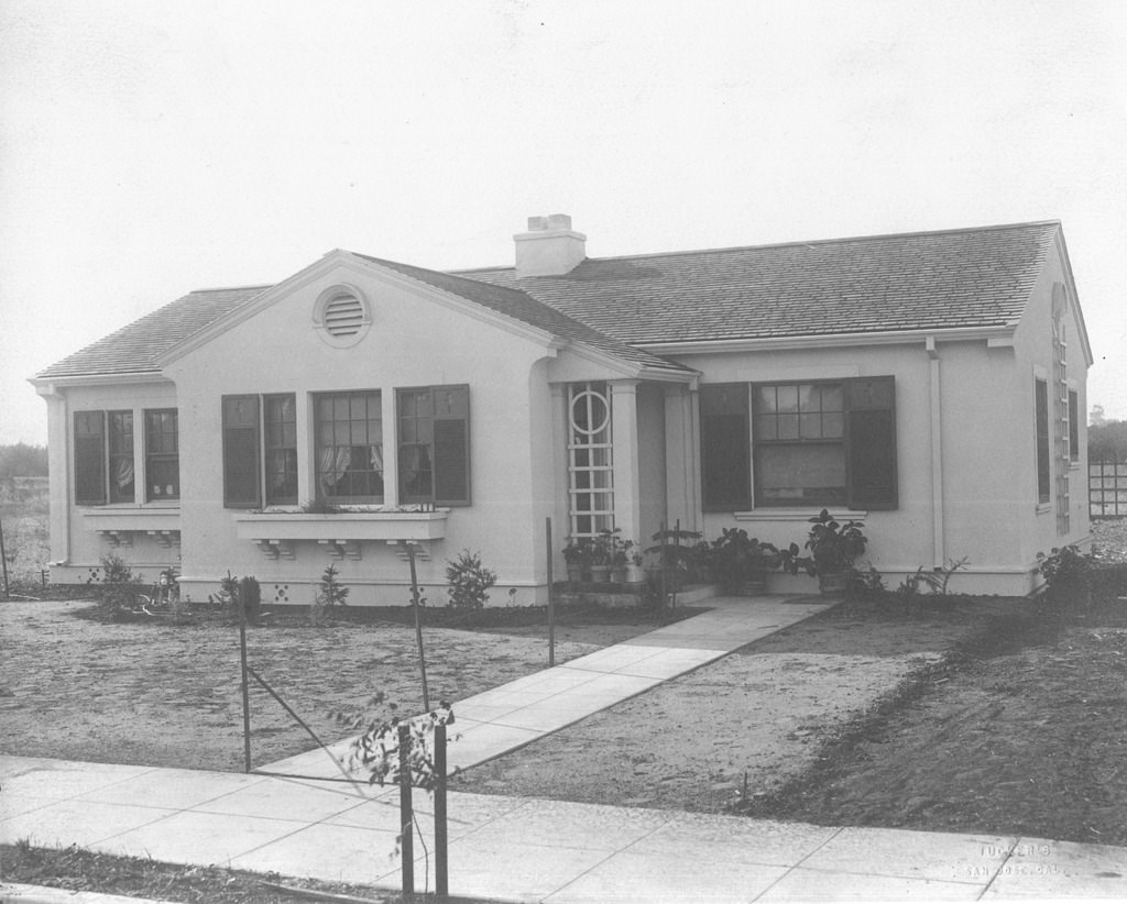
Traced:
[[701, 386], [701, 492], [706, 510], [751, 505], [747, 393], [746, 383]]

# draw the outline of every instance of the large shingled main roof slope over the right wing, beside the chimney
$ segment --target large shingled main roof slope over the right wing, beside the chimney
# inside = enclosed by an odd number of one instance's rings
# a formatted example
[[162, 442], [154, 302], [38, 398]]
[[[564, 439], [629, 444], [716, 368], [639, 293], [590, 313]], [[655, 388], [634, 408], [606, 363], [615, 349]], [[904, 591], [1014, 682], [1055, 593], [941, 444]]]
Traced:
[[462, 271], [630, 344], [959, 326], [1021, 316], [1056, 221]]

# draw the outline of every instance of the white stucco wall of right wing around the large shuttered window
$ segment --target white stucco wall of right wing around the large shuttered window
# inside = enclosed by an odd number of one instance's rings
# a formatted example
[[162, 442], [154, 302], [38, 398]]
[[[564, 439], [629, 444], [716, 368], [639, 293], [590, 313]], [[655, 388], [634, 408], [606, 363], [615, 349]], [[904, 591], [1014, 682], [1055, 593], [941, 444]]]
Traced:
[[[1042, 319], [1036, 305], [1027, 319]], [[1047, 315], [1044, 319], [1041, 332], [1050, 335]], [[1076, 334], [1074, 330], [1071, 333]], [[1028, 381], [1021, 378], [1030, 369], [1027, 343], [988, 348], [985, 339], [942, 341], [942, 333], [935, 339], [931, 351], [924, 340], [916, 339], [905, 344], [678, 355], [676, 360], [700, 370], [702, 385], [891, 375], [896, 381], [898, 507], [834, 513], [864, 521], [866, 560], [885, 574], [890, 588], [921, 565], [931, 569], [966, 558], [952, 579], [952, 590], [1028, 593], [1035, 587], [1031, 534], [1041, 544], [1037, 548], [1047, 551], [1059, 543], [1047, 543], [1047, 531], [1055, 535], [1055, 517], [1036, 511], [1031, 372]], [[1042, 344], [1051, 370], [1050, 339]], [[1079, 343], [1070, 350], [1083, 400]], [[668, 454], [671, 473], [693, 469], [672, 442]], [[1086, 507], [1075, 487], [1072, 504], [1073, 535], [1083, 536]], [[671, 496], [669, 505], [671, 510], [689, 509], [692, 501]], [[699, 505], [698, 512], [707, 539], [719, 536], [721, 528], [738, 526], [780, 546], [791, 541], [801, 546], [807, 519], [817, 513], [814, 508], [774, 507], [703, 512]], [[1077, 531], [1080, 523], [1084, 527]], [[813, 587], [806, 578], [777, 578], [777, 589]]]

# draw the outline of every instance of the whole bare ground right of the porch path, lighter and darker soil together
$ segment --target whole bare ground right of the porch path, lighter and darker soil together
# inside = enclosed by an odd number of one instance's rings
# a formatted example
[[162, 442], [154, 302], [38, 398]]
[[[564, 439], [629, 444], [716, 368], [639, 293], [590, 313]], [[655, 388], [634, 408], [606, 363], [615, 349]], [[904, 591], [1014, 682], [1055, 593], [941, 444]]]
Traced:
[[[1127, 562], [1127, 523], [1094, 532], [1100, 562]], [[1094, 606], [842, 606], [471, 770], [461, 787], [1127, 845], [1127, 602], [1116, 593], [1127, 584]]]

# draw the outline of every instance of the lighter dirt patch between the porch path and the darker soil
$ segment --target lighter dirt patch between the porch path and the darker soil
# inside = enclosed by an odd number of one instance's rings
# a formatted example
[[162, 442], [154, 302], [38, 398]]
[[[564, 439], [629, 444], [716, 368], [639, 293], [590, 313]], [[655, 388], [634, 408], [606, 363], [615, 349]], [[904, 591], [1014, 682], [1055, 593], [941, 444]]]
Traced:
[[458, 788], [720, 812], [745, 776], [762, 793], [804, 775], [852, 719], [987, 626], [982, 607], [915, 618], [842, 606], [472, 769]]

